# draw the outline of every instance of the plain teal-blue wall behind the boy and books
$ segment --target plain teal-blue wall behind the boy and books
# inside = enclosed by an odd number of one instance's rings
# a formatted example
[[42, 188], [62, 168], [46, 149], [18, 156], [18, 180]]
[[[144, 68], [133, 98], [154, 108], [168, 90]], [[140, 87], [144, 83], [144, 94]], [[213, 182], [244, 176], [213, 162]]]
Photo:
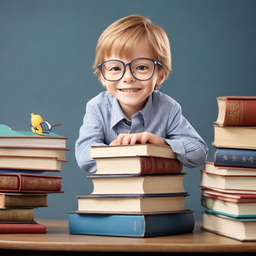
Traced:
[[[183, 115], [209, 146], [213, 161], [216, 97], [255, 95], [254, 0], [0, 0], [0, 124], [29, 130], [31, 112], [68, 137], [63, 194], [49, 194], [35, 218], [67, 219], [76, 195], [92, 183], [76, 164], [74, 144], [87, 101], [104, 90], [92, 72], [102, 31], [139, 13], [162, 26], [170, 39], [173, 71], [160, 91], [177, 100]], [[202, 220], [200, 169], [183, 168], [190, 194], [186, 208]], [[46, 173], [48, 174], [48, 173]], [[50, 173], [53, 174], [53, 173]]]

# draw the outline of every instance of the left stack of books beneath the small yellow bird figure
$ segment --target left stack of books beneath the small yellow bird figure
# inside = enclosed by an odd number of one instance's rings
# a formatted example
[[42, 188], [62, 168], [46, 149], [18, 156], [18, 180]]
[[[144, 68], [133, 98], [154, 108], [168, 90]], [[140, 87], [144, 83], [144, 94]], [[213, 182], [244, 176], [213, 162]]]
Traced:
[[0, 124], [0, 234], [45, 234], [34, 209], [47, 207], [49, 193], [61, 191], [60, 172], [66, 139], [55, 133], [37, 135]]

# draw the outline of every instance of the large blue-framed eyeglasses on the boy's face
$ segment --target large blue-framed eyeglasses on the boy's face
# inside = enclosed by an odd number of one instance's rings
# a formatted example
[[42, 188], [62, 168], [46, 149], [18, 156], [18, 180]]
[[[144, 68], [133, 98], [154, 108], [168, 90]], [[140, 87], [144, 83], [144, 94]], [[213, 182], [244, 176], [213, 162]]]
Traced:
[[119, 60], [104, 61], [98, 65], [103, 77], [108, 81], [120, 80], [125, 72], [126, 66], [130, 66], [132, 76], [139, 81], [149, 80], [155, 71], [156, 65], [161, 65], [158, 61], [151, 58], [135, 58], [130, 63], [124, 63]]

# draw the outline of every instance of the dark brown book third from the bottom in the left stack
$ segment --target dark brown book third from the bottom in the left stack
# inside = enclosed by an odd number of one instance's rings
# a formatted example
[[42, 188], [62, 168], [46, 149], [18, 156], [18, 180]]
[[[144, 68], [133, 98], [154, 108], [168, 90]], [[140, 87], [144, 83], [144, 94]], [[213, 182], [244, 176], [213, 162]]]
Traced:
[[0, 193], [0, 208], [4, 207], [47, 207], [47, 194]]

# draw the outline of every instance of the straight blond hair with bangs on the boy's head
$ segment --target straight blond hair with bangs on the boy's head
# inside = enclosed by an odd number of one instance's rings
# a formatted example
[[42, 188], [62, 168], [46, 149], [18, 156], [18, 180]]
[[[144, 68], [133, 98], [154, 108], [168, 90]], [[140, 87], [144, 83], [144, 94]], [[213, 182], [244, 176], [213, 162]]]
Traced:
[[104, 58], [108, 58], [113, 51], [120, 58], [132, 58], [133, 49], [141, 37], [145, 38], [146, 47], [155, 52], [156, 61], [162, 64], [158, 67], [159, 74], [167, 72], [168, 76], [171, 71], [171, 49], [166, 32], [162, 27], [153, 24], [149, 18], [133, 14], [113, 22], [99, 37], [92, 66], [99, 80], [101, 71], [97, 65], [105, 61]]

